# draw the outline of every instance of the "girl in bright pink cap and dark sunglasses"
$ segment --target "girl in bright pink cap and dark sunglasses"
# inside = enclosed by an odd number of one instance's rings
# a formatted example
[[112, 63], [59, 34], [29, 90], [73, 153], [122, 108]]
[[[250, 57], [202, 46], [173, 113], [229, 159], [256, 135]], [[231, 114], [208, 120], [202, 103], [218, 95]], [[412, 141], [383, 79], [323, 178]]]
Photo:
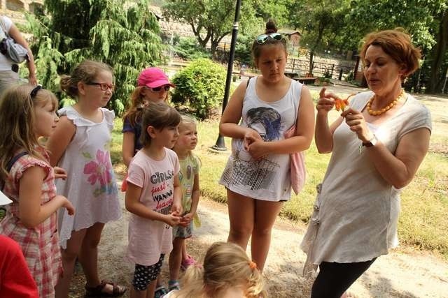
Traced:
[[169, 88], [167, 75], [157, 67], [146, 68], [137, 78], [137, 88], [131, 94], [130, 107], [123, 116], [123, 161], [126, 166], [141, 149], [141, 110], [150, 103], [166, 102]]

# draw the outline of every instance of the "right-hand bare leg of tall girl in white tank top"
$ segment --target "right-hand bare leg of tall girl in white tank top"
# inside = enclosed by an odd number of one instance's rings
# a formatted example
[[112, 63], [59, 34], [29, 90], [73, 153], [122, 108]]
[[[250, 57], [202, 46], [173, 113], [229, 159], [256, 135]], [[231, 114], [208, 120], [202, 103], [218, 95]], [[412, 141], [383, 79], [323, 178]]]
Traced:
[[265, 267], [271, 244], [271, 231], [283, 202], [255, 200], [255, 221], [251, 239], [252, 260], [260, 271]]

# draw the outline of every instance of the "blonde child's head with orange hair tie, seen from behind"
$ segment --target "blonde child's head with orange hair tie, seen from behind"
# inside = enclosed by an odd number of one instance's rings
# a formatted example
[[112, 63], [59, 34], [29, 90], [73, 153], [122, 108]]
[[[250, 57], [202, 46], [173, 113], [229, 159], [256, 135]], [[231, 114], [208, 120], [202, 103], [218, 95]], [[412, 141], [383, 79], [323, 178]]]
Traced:
[[182, 290], [165, 298], [258, 298], [267, 297], [255, 262], [237, 244], [215, 242], [207, 250], [204, 265], [187, 269]]

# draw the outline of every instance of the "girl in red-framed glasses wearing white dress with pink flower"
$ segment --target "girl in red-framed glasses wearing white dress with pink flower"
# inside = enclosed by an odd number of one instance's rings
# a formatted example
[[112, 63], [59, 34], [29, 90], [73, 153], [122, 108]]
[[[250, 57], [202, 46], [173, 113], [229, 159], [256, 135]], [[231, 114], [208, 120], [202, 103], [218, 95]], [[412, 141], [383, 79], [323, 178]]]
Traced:
[[48, 140], [50, 162], [60, 165], [69, 176], [58, 181], [57, 192], [76, 207], [76, 216], [59, 210], [59, 238], [64, 277], [56, 288], [57, 297], [67, 297], [75, 260], [83, 266], [86, 296], [120, 296], [125, 288], [98, 276], [98, 244], [104, 224], [121, 217], [118, 190], [109, 147], [113, 111], [104, 106], [113, 94], [110, 66], [85, 60], [71, 75], [63, 75], [61, 89], [76, 99], [59, 110], [59, 124]]

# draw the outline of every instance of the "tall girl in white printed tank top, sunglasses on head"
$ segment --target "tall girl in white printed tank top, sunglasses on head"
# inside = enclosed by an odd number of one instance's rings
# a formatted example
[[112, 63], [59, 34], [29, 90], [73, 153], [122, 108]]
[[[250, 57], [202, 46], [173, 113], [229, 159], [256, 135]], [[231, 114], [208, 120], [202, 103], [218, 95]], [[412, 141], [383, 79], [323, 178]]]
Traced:
[[284, 75], [286, 40], [272, 21], [252, 53], [261, 75], [237, 87], [221, 117], [220, 133], [232, 137], [232, 155], [220, 184], [227, 188], [228, 241], [246, 249], [251, 238], [252, 259], [262, 270], [272, 225], [290, 199], [290, 154], [308, 149], [314, 107], [307, 87]]

